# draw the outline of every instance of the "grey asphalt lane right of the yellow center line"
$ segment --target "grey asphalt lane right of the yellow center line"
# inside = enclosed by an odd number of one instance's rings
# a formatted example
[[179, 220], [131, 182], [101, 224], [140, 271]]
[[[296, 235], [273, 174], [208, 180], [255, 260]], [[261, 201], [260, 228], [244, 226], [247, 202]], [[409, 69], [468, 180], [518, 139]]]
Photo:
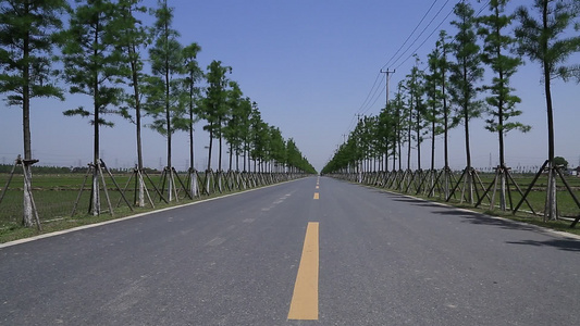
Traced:
[[325, 325], [577, 325], [580, 241], [321, 181]]

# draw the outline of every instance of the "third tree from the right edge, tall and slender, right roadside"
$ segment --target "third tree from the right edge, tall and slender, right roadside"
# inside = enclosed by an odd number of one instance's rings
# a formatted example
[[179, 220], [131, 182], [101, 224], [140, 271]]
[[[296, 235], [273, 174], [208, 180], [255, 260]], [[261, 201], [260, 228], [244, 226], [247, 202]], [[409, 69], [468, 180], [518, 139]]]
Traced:
[[464, 123], [467, 162], [464, 177], [467, 185], [468, 201], [473, 203], [474, 171], [471, 166], [469, 121], [479, 116], [482, 111], [482, 102], [477, 100], [476, 83], [482, 79], [483, 68], [481, 67], [480, 47], [477, 45], [473, 9], [469, 3], [458, 2], [454, 8], [454, 13], [457, 18], [452, 22], [452, 25], [456, 26], [458, 32], [452, 43], [456, 63], [451, 66], [449, 93], [452, 101], [457, 106], [457, 117]]

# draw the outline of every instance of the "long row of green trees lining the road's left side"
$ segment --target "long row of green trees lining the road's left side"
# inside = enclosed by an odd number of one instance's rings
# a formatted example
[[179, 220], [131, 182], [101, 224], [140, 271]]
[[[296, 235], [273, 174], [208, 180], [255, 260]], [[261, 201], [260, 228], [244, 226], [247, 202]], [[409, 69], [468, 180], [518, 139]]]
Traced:
[[[146, 204], [147, 185], [166, 201], [176, 197], [177, 189], [185, 189], [192, 198], [199, 195], [198, 173], [193, 168], [194, 123], [198, 120], [206, 121], [203, 129], [210, 134], [208, 170], [202, 174], [201, 185], [201, 191], [207, 195], [214, 185], [222, 191], [223, 185], [235, 183], [237, 188], [244, 188], [266, 184], [266, 180], [287, 179], [291, 175], [314, 173], [295, 142], [285, 140], [279, 128], [264, 123], [258, 105], [244, 97], [237, 83], [227, 78], [231, 67], [220, 61], [213, 61], [207, 72], [198, 66], [196, 57], [201, 48], [195, 42], [180, 43], [180, 33], [172, 28], [173, 9], [166, 0], [158, 1], [156, 9], [147, 9], [140, 2], [1, 2], [0, 92], [8, 95], [9, 104], [23, 109], [24, 158], [18, 156], [15, 165], [24, 170], [24, 225], [33, 226], [36, 214], [32, 165], [38, 161], [32, 156], [30, 99], [53, 97], [64, 100], [65, 91], [54, 82], [54, 76], [67, 83], [70, 93], [92, 99], [92, 108], [67, 110], [64, 114], [88, 117], [94, 126], [94, 160], [87, 174], [91, 189], [89, 206], [94, 215], [101, 213], [100, 190], [107, 189], [108, 168], [99, 158], [99, 128], [113, 126], [106, 118], [110, 113], [121, 114], [135, 125], [137, 199], [133, 204], [138, 206]], [[147, 13], [155, 16], [151, 26], [144, 25], [138, 18]], [[63, 29], [65, 20], [67, 28]], [[62, 63], [61, 71], [53, 67], [54, 59]], [[150, 72], [146, 72], [144, 62], [149, 62]], [[207, 86], [201, 88], [203, 82]], [[166, 137], [168, 163], [158, 186], [147, 180], [144, 173], [140, 136], [144, 116], [150, 117], [149, 125]], [[172, 135], [177, 130], [189, 133], [192, 167], [188, 185], [176, 180], [172, 166]], [[211, 170], [213, 139], [219, 140], [217, 172]], [[234, 171], [235, 165], [235, 171], [242, 168], [244, 173], [223, 171], [224, 141], [230, 149], [229, 171]], [[248, 175], [250, 171], [252, 176]], [[271, 175], [267, 177], [264, 174]], [[280, 177], [282, 174], [287, 177]], [[114, 179], [113, 183], [121, 188]], [[124, 201], [132, 205], [127, 199]], [[39, 221], [37, 214], [36, 221]]]

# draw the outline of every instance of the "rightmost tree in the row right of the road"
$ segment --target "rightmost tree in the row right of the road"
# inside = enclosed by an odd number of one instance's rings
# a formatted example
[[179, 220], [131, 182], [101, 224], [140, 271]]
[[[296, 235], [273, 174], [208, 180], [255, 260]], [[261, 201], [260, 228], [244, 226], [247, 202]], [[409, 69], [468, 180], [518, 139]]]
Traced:
[[566, 61], [572, 53], [580, 51], [580, 36], [565, 36], [578, 16], [579, 7], [578, 0], [534, 0], [532, 9], [539, 17], [534, 17], [526, 7], [520, 7], [516, 11], [519, 20], [519, 26], [516, 28], [516, 37], [519, 40], [518, 53], [527, 55], [532, 62], [540, 63], [544, 82], [548, 139], [547, 161], [544, 165], [547, 164], [550, 170], [544, 220], [557, 220], [551, 82], [556, 77], [566, 77], [565, 72], [571, 72], [570, 66], [566, 66]]

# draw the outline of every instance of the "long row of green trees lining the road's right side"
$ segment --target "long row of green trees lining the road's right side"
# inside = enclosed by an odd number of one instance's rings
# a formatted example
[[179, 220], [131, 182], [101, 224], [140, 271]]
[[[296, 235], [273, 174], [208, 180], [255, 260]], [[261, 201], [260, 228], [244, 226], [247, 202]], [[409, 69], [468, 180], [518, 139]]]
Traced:
[[[545, 173], [546, 198], [544, 220], [558, 216], [556, 179], [559, 177], [566, 191], [580, 209], [573, 189], [563, 176], [554, 155], [554, 118], [551, 96], [551, 80], [564, 78], [580, 83], [580, 65], [566, 64], [567, 59], [580, 51], [580, 30], [575, 20], [580, 12], [578, 0], [534, 0], [528, 7], [520, 7], [515, 13], [506, 13], [508, 0], [489, 1], [490, 13], [478, 16], [467, 1], [458, 2], [454, 9], [456, 27], [454, 37], [441, 30], [435, 48], [428, 55], [427, 67], [421, 70], [420, 60], [411, 68], [393, 100], [377, 116], [359, 120], [356, 128], [335, 152], [322, 173], [353, 180], [378, 184], [403, 191], [434, 196], [440, 191], [447, 201], [461, 189], [460, 199], [471, 204], [481, 204], [489, 193], [498, 193], [498, 205], [506, 210], [513, 202], [509, 187], [520, 195], [520, 201], [510, 209], [517, 211], [527, 203], [535, 183]], [[516, 25], [510, 32], [509, 27]], [[527, 131], [530, 126], [515, 122], [521, 114], [516, 105], [521, 101], [510, 87], [510, 78], [517, 73], [527, 57], [540, 63], [545, 90], [547, 111], [548, 158], [529, 184], [520, 189], [511, 177], [505, 162], [504, 136], [511, 130]], [[483, 84], [484, 66], [493, 72], [491, 83]], [[482, 95], [484, 100], [481, 100]], [[489, 186], [483, 186], [471, 165], [469, 122], [488, 113], [486, 129], [498, 137], [499, 165]], [[454, 180], [449, 168], [447, 133], [462, 124], [465, 128], [466, 167]], [[435, 137], [443, 134], [444, 166], [435, 171]], [[431, 138], [431, 166], [421, 170], [421, 145]], [[407, 170], [403, 170], [402, 147], [407, 149]], [[411, 149], [417, 150], [417, 172], [410, 171]], [[388, 160], [392, 159], [392, 167]], [[398, 161], [398, 164], [397, 164]], [[381, 173], [377, 171], [377, 163]], [[373, 166], [374, 164], [374, 166]], [[391, 172], [388, 172], [391, 170]], [[478, 191], [481, 186], [481, 191]], [[411, 190], [412, 189], [412, 190]], [[529, 204], [529, 203], [528, 203]], [[532, 210], [533, 211], [533, 210]], [[580, 215], [580, 214], [578, 214]], [[576, 218], [575, 223], [578, 222]]]

